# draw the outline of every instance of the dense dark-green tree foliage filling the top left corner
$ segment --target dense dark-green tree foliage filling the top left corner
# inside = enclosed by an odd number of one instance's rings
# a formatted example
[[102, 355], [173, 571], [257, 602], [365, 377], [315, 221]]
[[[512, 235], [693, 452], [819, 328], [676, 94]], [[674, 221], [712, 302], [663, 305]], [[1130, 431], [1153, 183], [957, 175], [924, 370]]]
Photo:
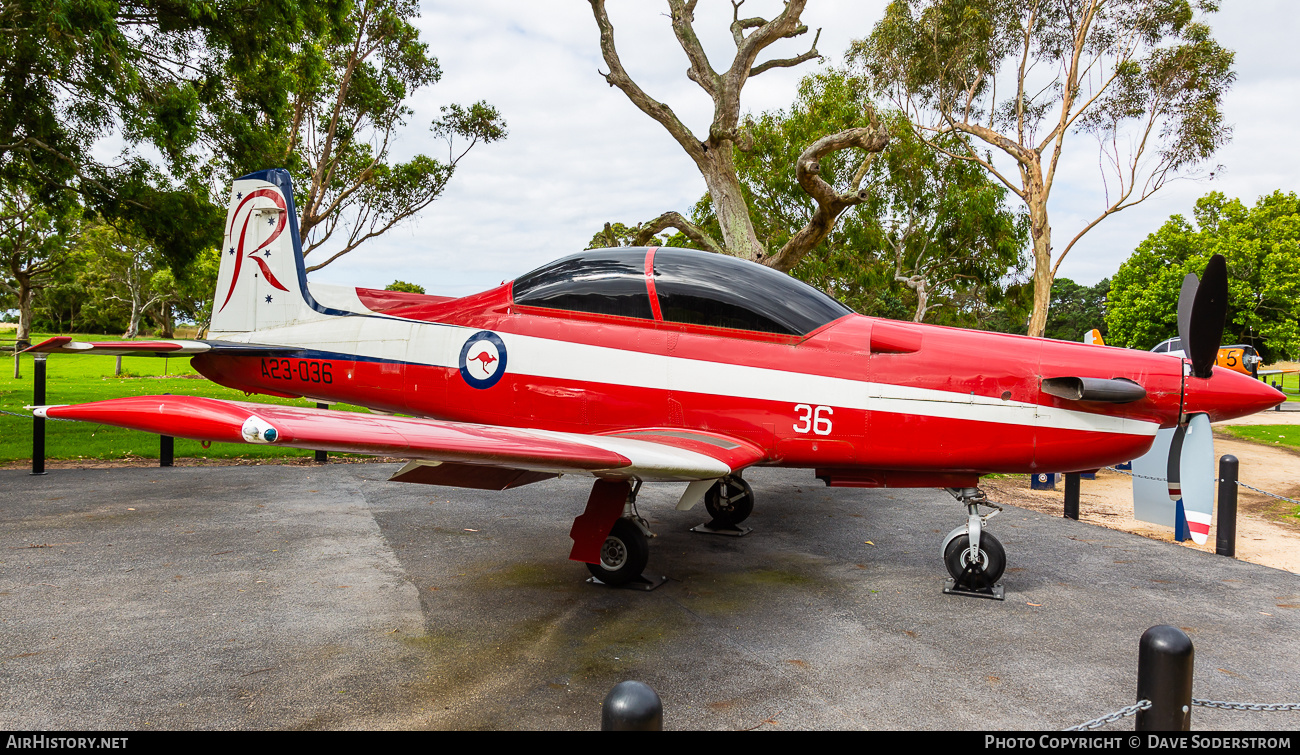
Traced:
[[[208, 159], [265, 153], [299, 40], [346, 0], [5, 0], [0, 178], [134, 222], [183, 265], [220, 240]], [[96, 144], [121, 152], [101, 159]], [[73, 199], [81, 195], [79, 199]]]

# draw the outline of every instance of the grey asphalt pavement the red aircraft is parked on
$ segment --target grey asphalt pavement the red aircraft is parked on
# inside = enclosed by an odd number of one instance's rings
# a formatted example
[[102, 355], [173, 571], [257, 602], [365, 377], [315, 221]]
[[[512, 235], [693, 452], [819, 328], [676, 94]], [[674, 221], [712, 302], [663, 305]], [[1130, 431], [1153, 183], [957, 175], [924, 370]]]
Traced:
[[944, 595], [950, 496], [755, 469], [745, 538], [645, 487], [670, 581], [642, 593], [567, 560], [589, 480], [395, 469], [0, 472], [0, 726], [597, 729], [634, 678], [668, 729], [1061, 729], [1134, 702], [1156, 624], [1192, 638], [1195, 697], [1300, 702], [1287, 572], [1008, 507], [1006, 600]]

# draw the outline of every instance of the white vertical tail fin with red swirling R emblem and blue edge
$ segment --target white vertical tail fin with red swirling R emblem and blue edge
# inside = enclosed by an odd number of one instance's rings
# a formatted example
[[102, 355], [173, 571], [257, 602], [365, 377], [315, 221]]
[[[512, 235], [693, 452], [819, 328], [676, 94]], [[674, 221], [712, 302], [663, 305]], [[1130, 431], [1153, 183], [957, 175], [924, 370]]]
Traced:
[[307, 290], [287, 170], [261, 170], [235, 179], [221, 251], [212, 304], [214, 338], [346, 314], [321, 307]]

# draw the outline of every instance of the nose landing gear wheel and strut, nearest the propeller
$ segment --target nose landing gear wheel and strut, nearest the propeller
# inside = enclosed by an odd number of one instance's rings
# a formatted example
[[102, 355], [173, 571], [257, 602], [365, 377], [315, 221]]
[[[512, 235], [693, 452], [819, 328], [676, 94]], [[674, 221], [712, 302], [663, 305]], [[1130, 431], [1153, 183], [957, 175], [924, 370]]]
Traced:
[[[984, 531], [988, 520], [997, 516], [1001, 507], [989, 503], [978, 487], [948, 487], [948, 493], [966, 507], [966, 524], [948, 533], [940, 552], [952, 578], [944, 587], [950, 595], [1005, 599], [1002, 572], [1006, 570], [1006, 551], [1002, 543]], [[980, 515], [979, 507], [993, 511]]]

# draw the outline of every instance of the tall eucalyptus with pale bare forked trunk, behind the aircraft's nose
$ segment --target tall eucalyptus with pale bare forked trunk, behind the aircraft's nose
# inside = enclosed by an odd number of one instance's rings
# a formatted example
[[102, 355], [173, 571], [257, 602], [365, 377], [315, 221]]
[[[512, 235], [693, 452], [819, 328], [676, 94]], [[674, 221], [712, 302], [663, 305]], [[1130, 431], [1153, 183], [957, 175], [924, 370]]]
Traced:
[[[850, 51], [935, 149], [982, 166], [1024, 203], [1031, 335], [1043, 335], [1052, 279], [1086, 233], [1193, 174], [1230, 138], [1221, 99], [1234, 81], [1232, 53], [1196, 14], [1217, 8], [1213, 0], [894, 0]], [[1102, 168], [1105, 200], [1057, 252], [1048, 200], [1062, 155], [1084, 149], [1069, 134], [1096, 139], [1087, 149]]]

